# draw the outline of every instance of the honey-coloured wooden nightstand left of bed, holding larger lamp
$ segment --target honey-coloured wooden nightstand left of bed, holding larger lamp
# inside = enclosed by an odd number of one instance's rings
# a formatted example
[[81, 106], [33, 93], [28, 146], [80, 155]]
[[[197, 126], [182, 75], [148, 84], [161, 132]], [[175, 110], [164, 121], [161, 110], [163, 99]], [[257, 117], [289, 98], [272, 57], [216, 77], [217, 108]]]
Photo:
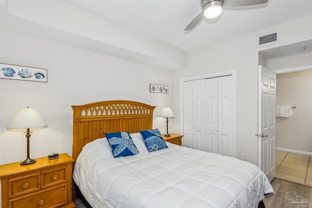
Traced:
[[2, 208], [75, 208], [71, 198], [72, 163], [68, 154], [36, 158], [36, 163], [0, 165]]

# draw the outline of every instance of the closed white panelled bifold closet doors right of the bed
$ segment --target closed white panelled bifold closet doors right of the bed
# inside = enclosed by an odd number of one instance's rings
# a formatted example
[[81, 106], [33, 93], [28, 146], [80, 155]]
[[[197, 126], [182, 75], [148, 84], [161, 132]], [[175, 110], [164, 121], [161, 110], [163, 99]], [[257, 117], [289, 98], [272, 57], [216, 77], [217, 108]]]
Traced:
[[185, 147], [236, 157], [236, 75], [234, 71], [181, 83]]

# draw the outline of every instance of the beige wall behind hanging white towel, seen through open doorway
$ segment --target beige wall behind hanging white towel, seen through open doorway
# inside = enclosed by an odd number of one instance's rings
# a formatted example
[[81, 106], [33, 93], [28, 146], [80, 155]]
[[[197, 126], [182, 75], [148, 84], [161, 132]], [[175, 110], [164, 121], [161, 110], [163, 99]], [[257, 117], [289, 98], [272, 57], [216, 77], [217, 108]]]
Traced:
[[278, 74], [276, 105], [296, 106], [290, 118], [276, 117], [276, 147], [312, 154], [312, 70]]

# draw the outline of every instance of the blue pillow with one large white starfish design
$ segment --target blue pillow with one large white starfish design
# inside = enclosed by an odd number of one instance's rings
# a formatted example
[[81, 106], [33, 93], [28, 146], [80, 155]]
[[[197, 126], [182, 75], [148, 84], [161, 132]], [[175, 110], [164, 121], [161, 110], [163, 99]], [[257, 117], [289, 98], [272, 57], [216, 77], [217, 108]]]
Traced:
[[129, 132], [104, 133], [114, 157], [129, 156], [139, 153]]

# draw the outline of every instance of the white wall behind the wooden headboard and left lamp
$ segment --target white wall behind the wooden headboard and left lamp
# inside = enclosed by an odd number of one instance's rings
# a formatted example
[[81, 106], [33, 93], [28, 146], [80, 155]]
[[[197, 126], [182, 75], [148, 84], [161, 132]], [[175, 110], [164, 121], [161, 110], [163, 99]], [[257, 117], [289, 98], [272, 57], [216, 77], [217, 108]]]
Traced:
[[[102, 100], [135, 100], [157, 106], [154, 128], [166, 132], [158, 115], [173, 104], [173, 72], [122, 58], [47, 41], [1, 28], [0, 62], [44, 68], [48, 82], [0, 79], [0, 164], [26, 159], [26, 137], [6, 130], [20, 107], [36, 108], [48, 128], [33, 132], [30, 156], [72, 154], [71, 105]], [[149, 84], [169, 86], [169, 94], [150, 93]], [[174, 113], [178, 112], [174, 110]], [[169, 125], [169, 131], [172, 126]]]

